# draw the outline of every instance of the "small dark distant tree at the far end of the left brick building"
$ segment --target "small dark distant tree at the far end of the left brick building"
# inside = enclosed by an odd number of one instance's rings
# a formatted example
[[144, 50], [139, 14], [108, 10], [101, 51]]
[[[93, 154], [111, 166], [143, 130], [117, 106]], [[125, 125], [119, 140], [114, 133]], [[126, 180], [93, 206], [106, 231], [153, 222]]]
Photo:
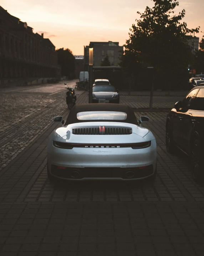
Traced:
[[70, 49], [57, 49], [58, 64], [61, 65], [62, 76], [73, 79], [75, 76], [75, 57]]

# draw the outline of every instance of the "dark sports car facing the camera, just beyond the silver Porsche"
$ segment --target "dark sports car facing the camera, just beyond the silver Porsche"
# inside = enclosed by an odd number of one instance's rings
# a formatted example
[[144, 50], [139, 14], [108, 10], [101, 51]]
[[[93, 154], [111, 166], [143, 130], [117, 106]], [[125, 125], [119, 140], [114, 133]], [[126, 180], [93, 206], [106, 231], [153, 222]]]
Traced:
[[92, 102], [119, 103], [120, 98], [118, 92], [112, 85], [95, 85], [93, 86]]

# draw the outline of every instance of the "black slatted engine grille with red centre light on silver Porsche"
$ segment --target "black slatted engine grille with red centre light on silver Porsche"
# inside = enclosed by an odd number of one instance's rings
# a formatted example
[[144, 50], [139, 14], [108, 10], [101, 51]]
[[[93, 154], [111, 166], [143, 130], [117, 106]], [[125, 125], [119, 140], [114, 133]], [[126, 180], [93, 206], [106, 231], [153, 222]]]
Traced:
[[[101, 126], [104, 127], [104, 126]], [[132, 129], [128, 127], [106, 127], [100, 131], [99, 127], [73, 128], [72, 134], [77, 135], [126, 135], [132, 134]]]

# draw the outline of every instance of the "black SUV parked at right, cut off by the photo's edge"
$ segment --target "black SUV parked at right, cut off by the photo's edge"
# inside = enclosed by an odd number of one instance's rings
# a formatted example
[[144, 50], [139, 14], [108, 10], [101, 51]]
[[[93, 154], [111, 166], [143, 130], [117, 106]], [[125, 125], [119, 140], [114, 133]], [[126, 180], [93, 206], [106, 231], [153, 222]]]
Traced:
[[204, 85], [194, 87], [167, 115], [167, 151], [174, 153], [175, 146], [191, 157], [193, 179], [196, 182], [203, 179]]

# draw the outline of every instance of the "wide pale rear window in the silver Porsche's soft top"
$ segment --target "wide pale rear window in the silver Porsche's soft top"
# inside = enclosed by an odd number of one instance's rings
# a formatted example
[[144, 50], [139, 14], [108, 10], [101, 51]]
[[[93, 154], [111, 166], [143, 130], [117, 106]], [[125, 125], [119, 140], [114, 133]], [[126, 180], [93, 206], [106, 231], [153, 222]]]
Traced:
[[127, 113], [117, 111], [86, 111], [77, 113], [78, 120], [126, 120]]

